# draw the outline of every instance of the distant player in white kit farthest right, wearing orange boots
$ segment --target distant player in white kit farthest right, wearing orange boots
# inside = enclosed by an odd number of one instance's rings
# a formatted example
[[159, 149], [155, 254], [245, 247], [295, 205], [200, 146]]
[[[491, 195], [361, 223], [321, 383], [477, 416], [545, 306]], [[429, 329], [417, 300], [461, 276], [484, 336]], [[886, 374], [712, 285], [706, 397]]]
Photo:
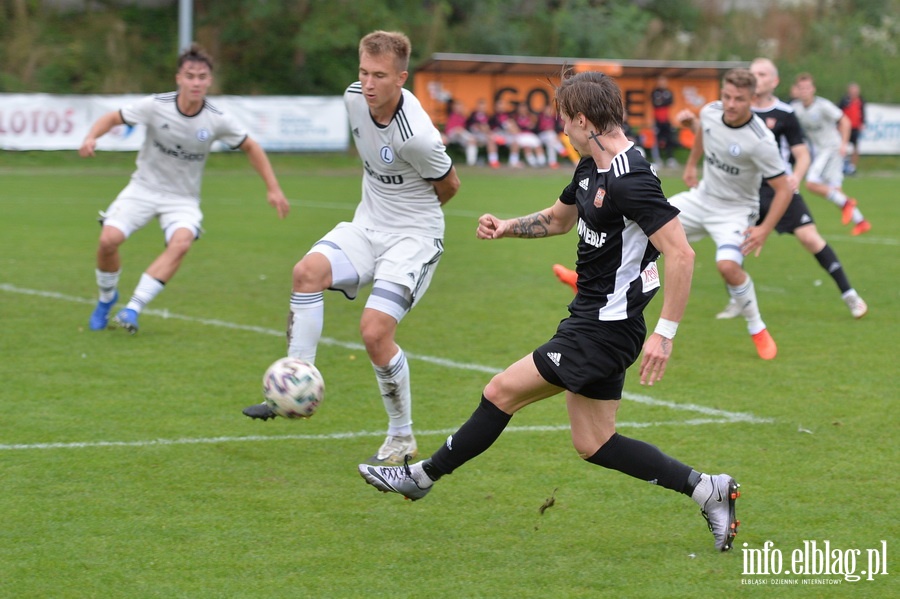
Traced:
[[816, 95], [812, 75], [801, 73], [795, 82], [797, 99], [791, 102], [809, 140], [813, 161], [806, 172], [806, 188], [841, 209], [841, 223], [853, 223], [851, 235], [862, 235], [872, 225], [842, 189], [844, 157], [850, 141], [850, 119], [833, 102]]

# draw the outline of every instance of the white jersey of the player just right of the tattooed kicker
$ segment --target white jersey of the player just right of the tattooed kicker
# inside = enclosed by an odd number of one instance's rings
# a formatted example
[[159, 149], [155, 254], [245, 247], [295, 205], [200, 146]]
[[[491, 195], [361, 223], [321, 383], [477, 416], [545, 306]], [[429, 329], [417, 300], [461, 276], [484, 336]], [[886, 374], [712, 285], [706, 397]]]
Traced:
[[758, 207], [763, 179], [784, 174], [775, 136], [755, 114], [740, 127], [726, 125], [723, 116], [720, 101], [700, 110], [705, 163], [699, 189], [723, 202]]

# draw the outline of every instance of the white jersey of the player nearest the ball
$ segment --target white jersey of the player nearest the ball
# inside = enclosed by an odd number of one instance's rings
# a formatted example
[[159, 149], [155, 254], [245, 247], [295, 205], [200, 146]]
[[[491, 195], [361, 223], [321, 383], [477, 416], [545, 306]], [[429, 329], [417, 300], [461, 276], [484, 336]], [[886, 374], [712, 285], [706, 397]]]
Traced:
[[362, 201], [353, 222], [375, 231], [442, 238], [444, 213], [431, 181], [446, 177], [453, 162], [419, 100], [401, 92], [388, 125], [372, 119], [359, 82], [344, 92], [363, 163]]

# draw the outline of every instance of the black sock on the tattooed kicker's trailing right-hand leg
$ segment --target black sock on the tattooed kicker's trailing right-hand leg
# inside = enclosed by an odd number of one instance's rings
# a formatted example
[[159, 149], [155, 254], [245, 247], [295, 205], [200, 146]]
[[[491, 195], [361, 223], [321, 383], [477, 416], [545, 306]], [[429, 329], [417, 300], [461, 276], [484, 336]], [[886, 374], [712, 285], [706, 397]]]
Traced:
[[700, 474], [657, 447], [614, 433], [587, 461], [690, 497]]

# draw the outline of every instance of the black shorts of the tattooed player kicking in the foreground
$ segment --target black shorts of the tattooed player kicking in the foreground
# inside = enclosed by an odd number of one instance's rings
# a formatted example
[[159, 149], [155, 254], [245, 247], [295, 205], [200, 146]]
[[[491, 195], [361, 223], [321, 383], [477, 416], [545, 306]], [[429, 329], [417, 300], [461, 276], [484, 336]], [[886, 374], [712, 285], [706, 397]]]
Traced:
[[570, 316], [536, 350], [534, 365], [548, 383], [591, 399], [621, 399], [625, 371], [644, 345], [643, 318], [601, 321]]

